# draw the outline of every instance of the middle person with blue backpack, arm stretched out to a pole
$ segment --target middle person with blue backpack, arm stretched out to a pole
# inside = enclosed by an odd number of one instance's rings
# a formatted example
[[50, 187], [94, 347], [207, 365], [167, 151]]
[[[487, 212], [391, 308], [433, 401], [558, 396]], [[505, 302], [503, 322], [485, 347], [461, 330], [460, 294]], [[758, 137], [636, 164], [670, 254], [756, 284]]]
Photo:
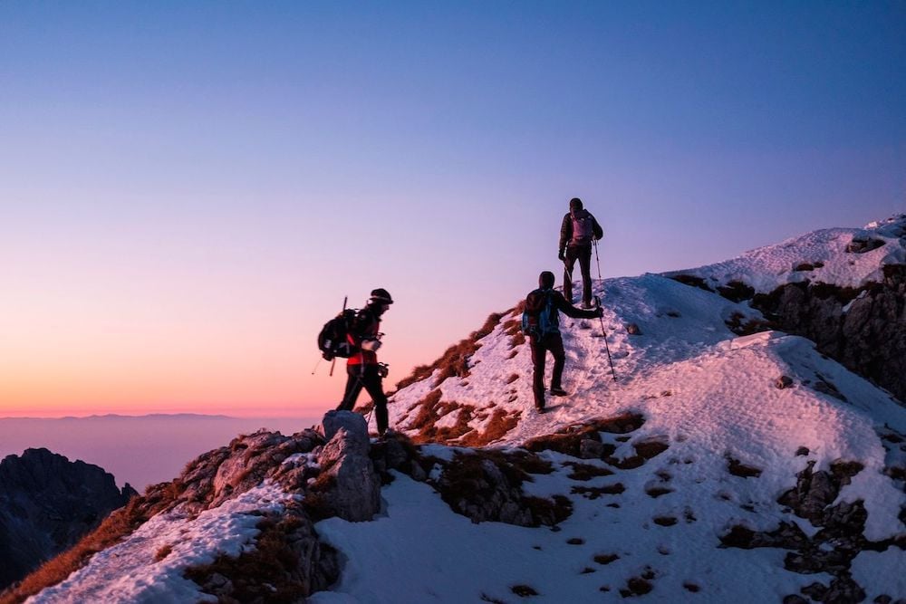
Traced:
[[538, 277], [538, 289], [530, 292], [525, 298], [523, 313], [523, 331], [529, 336], [532, 345], [532, 364], [535, 366], [535, 378], [532, 388], [535, 392], [535, 408], [545, 412], [545, 357], [550, 351], [554, 355], [554, 373], [551, 376], [551, 395], [565, 397], [563, 388], [564, 340], [560, 335], [560, 312], [573, 319], [595, 319], [604, 314], [599, 306], [593, 310], [583, 311], [566, 302], [564, 295], [554, 290], [554, 273], [545, 271]]

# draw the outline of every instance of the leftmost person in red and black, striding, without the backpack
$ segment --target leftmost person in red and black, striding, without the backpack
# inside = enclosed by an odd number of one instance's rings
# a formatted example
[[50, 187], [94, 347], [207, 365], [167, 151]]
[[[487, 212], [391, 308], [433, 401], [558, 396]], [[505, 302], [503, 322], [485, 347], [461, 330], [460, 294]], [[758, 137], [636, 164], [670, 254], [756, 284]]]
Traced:
[[386, 365], [378, 364], [377, 351], [381, 348], [381, 315], [387, 312], [393, 299], [387, 290], [378, 288], [371, 291], [365, 308], [352, 319], [346, 340], [353, 354], [346, 361], [346, 390], [338, 411], [352, 411], [361, 388], [365, 388], [374, 403], [374, 420], [378, 434], [387, 431], [387, 395], [384, 394], [383, 379], [387, 375]]

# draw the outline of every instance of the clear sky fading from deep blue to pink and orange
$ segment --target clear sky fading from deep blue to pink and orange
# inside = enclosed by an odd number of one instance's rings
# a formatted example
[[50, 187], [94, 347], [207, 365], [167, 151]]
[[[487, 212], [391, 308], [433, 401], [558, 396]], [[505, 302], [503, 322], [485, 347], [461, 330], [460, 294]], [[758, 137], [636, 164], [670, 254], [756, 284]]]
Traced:
[[906, 3], [0, 3], [0, 417], [313, 415], [344, 295], [395, 383], [574, 196], [605, 277], [906, 211]]

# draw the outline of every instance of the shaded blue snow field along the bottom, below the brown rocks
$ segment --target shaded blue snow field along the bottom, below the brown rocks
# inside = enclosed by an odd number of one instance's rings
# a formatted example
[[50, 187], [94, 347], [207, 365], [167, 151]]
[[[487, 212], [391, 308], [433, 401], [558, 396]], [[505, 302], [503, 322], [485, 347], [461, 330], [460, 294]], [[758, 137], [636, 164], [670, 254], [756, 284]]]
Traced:
[[[543, 479], [563, 483], [564, 474]], [[641, 492], [627, 492], [622, 500], [645, 505], [619, 509], [576, 498], [573, 515], [557, 532], [471, 523], [450, 513], [428, 485], [403, 475], [383, 496], [386, 514], [371, 523], [333, 518], [317, 524], [322, 538], [349, 558], [339, 585], [310, 602], [514, 601], [512, 588], [518, 585], [538, 592], [533, 602], [598, 601], [605, 598], [602, 587], [616, 599], [627, 580], [651, 569], [654, 590], [645, 601], [755, 603], [779, 601], [814, 580], [828, 580], [782, 570], [781, 551], [715, 551], [717, 536], [701, 540], [694, 523], [652, 524], [648, 514], [660, 500], [645, 502], [650, 498]], [[583, 542], [570, 544], [571, 539]], [[619, 559], [609, 564], [594, 561], [595, 555], [614, 553]], [[692, 593], [684, 583], [701, 591]]]

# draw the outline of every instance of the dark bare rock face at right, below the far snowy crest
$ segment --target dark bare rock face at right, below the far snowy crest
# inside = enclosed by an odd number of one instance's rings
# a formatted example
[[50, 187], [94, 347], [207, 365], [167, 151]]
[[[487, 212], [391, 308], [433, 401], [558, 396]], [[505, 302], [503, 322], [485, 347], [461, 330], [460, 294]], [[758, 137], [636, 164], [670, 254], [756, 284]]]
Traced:
[[906, 265], [885, 266], [883, 282], [861, 290], [788, 283], [755, 296], [752, 305], [780, 330], [813, 340], [822, 353], [906, 401]]

